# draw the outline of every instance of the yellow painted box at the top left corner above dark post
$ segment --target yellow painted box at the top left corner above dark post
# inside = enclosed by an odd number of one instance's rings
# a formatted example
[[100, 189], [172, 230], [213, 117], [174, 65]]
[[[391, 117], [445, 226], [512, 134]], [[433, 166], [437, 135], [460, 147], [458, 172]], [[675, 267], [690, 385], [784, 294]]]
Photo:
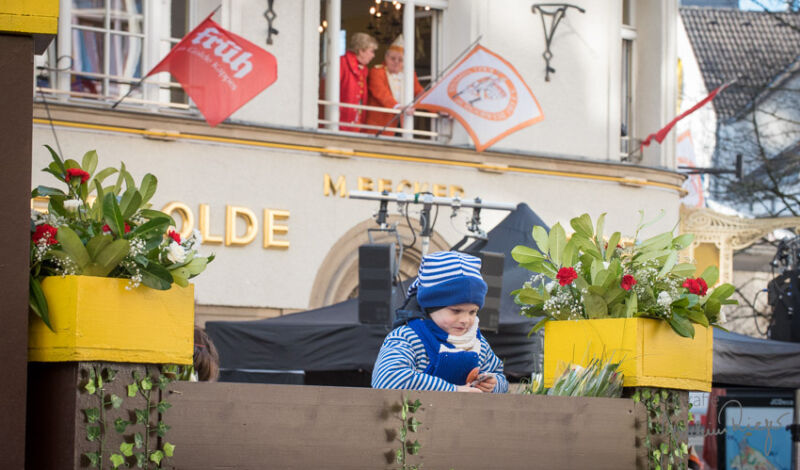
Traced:
[[58, 0], [0, 0], [0, 32], [56, 34]]

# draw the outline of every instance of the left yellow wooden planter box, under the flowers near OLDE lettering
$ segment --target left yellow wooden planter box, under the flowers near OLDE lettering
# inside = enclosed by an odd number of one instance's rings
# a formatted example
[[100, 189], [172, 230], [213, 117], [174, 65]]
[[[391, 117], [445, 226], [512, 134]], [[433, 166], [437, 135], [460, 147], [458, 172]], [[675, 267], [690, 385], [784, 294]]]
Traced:
[[127, 279], [46, 278], [42, 290], [55, 333], [31, 314], [28, 360], [191, 364], [194, 286], [126, 286]]

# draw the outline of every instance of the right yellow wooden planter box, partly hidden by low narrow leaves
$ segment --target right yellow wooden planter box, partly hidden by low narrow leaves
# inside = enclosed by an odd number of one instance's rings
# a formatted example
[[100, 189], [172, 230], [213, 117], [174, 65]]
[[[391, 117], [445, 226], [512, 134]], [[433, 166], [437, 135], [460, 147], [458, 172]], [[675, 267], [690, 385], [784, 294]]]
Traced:
[[694, 338], [650, 318], [549, 321], [544, 328], [545, 387], [565, 364], [585, 366], [602, 357], [622, 361], [626, 387], [711, 391], [711, 328], [694, 324]]

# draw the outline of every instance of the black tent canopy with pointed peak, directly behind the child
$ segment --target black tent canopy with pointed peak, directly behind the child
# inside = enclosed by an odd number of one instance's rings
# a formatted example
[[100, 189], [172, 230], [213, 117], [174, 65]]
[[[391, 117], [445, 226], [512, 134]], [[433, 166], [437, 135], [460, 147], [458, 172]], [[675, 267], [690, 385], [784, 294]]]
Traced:
[[[531, 235], [534, 225], [545, 226], [530, 207], [520, 204], [488, 233], [488, 243], [473, 243], [466, 249], [506, 255], [499, 330], [485, 335], [504, 361], [505, 370], [518, 376], [538, 370], [536, 361], [542, 348], [540, 336], [528, 336], [535, 320], [519, 315], [519, 306], [509, 295], [530, 277], [530, 272], [517, 266], [510, 253], [518, 244], [534, 245]], [[223, 371], [253, 373], [369, 371], [383, 338], [390, 331], [384, 325], [359, 323], [357, 299], [278, 318], [208, 322], [206, 329], [219, 350]]]

